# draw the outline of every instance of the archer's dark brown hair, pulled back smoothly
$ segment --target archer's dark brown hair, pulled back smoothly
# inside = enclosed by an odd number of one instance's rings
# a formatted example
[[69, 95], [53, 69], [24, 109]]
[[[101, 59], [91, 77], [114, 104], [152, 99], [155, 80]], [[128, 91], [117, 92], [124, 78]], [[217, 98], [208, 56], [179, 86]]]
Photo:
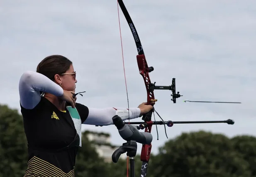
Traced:
[[72, 61], [61, 55], [50, 55], [37, 66], [37, 73], [41, 73], [54, 81], [55, 74], [63, 74], [70, 68]]

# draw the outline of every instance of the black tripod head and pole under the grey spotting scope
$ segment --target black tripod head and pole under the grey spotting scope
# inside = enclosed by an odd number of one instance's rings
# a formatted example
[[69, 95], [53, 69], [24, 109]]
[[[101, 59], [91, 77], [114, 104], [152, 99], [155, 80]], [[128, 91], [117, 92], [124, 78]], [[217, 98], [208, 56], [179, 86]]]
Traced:
[[127, 141], [123, 143], [115, 152], [112, 154], [112, 161], [117, 163], [121, 154], [126, 153], [127, 156], [130, 158], [130, 177], [135, 177], [135, 160], [134, 157], [137, 153], [137, 142], [136, 141]]

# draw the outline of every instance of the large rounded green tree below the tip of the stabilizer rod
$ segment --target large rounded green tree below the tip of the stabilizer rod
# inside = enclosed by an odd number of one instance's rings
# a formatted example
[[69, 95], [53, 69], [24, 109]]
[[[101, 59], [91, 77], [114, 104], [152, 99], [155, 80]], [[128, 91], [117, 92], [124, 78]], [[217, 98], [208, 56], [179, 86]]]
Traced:
[[244, 177], [250, 165], [230, 139], [210, 132], [183, 133], [160, 149], [151, 164], [158, 177]]

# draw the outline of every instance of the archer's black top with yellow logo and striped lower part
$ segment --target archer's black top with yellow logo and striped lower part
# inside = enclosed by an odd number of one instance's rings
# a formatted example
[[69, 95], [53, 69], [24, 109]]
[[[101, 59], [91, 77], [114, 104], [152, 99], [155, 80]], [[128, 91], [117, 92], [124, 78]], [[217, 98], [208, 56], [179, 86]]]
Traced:
[[88, 107], [76, 103], [59, 111], [45, 97], [34, 109], [21, 106], [28, 142], [28, 166], [24, 177], [73, 177], [76, 154], [81, 146], [81, 123]]

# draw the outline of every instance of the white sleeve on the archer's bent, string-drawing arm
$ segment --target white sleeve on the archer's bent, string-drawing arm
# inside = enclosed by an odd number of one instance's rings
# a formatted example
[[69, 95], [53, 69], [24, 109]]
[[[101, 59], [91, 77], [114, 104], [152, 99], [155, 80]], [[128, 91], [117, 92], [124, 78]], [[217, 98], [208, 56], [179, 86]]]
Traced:
[[22, 74], [19, 83], [20, 104], [25, 109], [33, 109], [41, 100], [40, 92], [47, 92], [57, 97], [63, 94], [61, 86], [43, 74], [26, 71]]

